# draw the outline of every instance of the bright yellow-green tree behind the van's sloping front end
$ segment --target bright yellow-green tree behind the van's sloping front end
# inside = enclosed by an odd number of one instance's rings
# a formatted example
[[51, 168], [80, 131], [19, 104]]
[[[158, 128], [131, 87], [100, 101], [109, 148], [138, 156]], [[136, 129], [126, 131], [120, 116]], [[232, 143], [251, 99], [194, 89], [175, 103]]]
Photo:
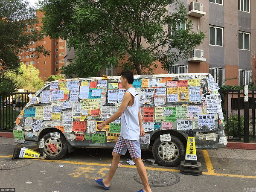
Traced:
[[39, 70], [37, 70], [32, 64], [26, 66], [21, 63], [18, 68], [18, 72], [12, 70], [6, 72], [5, 76], [12, 81], [17, 82], [20, 89], [35, 92], [44, 86], [44, 80], [39, 77]]

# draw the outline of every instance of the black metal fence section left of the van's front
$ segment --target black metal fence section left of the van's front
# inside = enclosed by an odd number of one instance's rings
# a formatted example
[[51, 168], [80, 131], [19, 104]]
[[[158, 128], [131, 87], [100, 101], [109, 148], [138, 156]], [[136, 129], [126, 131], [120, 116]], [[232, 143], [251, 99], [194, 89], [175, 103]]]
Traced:
[[12, 131], [17, 116], [29, 102], [29, 94], [30, 92], [0, 94], [0, 131]]

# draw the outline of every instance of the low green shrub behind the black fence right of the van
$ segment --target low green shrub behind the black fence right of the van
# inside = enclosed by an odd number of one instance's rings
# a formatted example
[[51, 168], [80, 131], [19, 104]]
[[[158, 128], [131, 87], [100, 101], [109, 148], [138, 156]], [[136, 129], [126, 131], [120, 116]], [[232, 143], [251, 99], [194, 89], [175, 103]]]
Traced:
[[[238, 115], [230, 116], [228, 118], [228, 134], [233, 138], [238, 138]], [[234, 123], [234, 125], [233, 125]], [[244, 134], [244, 116], [240, 116], [240, 128], [241, 128], [241, 135]]]

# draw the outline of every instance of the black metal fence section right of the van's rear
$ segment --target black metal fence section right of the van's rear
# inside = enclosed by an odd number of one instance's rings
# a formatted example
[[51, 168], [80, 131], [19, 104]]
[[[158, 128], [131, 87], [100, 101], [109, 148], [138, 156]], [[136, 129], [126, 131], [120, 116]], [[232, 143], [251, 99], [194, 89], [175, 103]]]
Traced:
[[[243, 90], [218, 90], [221, 93], [224, 114], [225, 134], [230, 141], [255, 141], [255, 93], [249, 94], [249, 101], [244, 102]], [[250, 122], [250, 123], [249, 123]]]

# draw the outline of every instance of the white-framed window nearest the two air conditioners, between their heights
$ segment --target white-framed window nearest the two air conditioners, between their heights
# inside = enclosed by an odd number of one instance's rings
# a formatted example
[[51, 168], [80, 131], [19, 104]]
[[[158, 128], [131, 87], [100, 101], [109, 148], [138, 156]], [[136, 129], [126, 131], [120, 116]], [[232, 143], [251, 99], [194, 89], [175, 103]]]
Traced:
[[223, 46], [223, 28], [209, 26], [209, 44]]

